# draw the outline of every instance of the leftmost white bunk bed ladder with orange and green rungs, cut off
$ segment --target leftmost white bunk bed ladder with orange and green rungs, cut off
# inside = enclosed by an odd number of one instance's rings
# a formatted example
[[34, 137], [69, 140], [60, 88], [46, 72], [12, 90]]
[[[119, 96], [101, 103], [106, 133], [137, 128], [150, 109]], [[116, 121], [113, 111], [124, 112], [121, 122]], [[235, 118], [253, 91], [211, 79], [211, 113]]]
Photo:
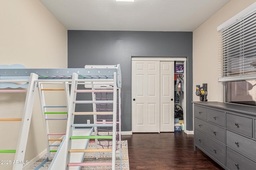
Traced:
[[22, 118], [0, 118], [0, 121], [21, 121], [20, 132], [18, 135], [17, 146], [15, 150], [0, 150], [0, 153], [15, 153], [14, 162], [12, 162], [13, 170], [21, 170], [23, 167], [24, 156], [26, 151], [26, 145], [28, 141], [28, 133], [30, 128], [30, 121], [32, 116], [32, 110], [34, 105], [36, 83], [35, 80], [38, 79], [38, 75], [31, 73], [29, 80], [0, 80], [0, 82], [7, 83], [18, 83], [18, 82], [28, 82], [28, 88], [22, 90], [0, 90], [0, 92], [26, 92], [26, 100], [24, 104]]

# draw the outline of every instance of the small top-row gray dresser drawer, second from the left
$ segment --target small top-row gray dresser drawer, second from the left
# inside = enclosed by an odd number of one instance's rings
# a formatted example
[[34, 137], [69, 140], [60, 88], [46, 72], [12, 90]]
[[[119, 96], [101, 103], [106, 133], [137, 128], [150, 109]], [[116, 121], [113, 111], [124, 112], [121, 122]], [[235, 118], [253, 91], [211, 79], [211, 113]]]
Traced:
[[225, 112], [207, 109], [207, 120], [220, 126], [225, 126]]

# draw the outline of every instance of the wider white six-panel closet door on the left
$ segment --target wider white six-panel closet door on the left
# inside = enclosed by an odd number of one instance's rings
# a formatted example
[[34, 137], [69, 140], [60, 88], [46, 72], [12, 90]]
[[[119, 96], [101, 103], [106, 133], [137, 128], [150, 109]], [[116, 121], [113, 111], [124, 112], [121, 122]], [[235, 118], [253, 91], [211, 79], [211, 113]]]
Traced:
[[132, 131], [160, 132], [160, 61], [132, 61]]

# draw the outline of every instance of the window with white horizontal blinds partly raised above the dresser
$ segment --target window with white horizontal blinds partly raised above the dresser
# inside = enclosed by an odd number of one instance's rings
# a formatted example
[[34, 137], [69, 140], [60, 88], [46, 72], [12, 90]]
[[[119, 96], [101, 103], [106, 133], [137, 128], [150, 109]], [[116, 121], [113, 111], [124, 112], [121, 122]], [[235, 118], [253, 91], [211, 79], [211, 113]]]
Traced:
[[256, 106], [256, 3], [252, 6], [218, 27], [219, 81], [225, 102]]

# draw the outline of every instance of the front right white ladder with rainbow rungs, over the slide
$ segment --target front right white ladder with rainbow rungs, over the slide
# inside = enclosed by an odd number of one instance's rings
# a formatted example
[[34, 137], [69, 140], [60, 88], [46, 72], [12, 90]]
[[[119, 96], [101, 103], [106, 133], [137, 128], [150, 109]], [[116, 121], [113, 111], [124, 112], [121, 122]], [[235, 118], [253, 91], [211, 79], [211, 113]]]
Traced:
[[[81, 82], [97, 82], [97, 81], [106, 81], [106, 82], [114, 82], [113, 90], [78, 90], [78, 84], [81, 84]], [[76, 93], [95, 93], [95, 92], [113, 92], [113, 100], [86, 100], [86, 101], [78, 101], [76, 100]], [[66, 147], [67, 147], [67, 153], [66, 153], [66, 170], [73, 170], [73, 167], [80, 168], [81, 166], [111, 166], [112, 170], [115, 170], [115, 164], [116, 164], [116, 149], [86, 149], [87, 143], [89, 139], [111, 139], [112, 145], [116, 146], [116, 110], [117, 110], [117, 85], [116, 85], [116, 72], [114, 72], [114, 78], [113, 79], [78, 79], [78, 75], [76, 73], [72, 76], [72, 85], [70, 90], [70, 104], [68, 109], [68, 123], [67, 123], [67, 131], [66, 131]], [[95, 110], [93, 112], [75, 112], [76, 104], [95, 104], [95, 103], [111, 103], [113, 104], [113, 111], [112, 112], [96, 112]], [[95, 122], [93, 124], [74, 124], [74, 116], [75, 115], [97, 115], [97, 114], [108, 114], [113, 115], [113, 123], [108, 124], [96, 124]], [[112, 127], [113, 133], [112, 135], [105, 135], [105, 136], [97, 136], [91, 135], [88, 133], [87, 135], [80, 135], [80, 136], [74, 136], [74, 130], [76, 130], [76, 127], [90, 127], [91, 131], [94, 129], [94, 127], [97, 126], [104, 126], [104, 127]], [[77, 140], [85, 140], [86, 144], [81, 145], [82, 148], [78, 148], [78, 145], [76, 145], [76, 149], [74, 149], [73, 143]], [[112, 152], [112, 161], [111, 162], [83, 162], [84, 154], [86, 152]], [[80, 153], [80, 158], [74, 158], [77, 154]], [[78, 160], [78, 161], [77, 161]]]

